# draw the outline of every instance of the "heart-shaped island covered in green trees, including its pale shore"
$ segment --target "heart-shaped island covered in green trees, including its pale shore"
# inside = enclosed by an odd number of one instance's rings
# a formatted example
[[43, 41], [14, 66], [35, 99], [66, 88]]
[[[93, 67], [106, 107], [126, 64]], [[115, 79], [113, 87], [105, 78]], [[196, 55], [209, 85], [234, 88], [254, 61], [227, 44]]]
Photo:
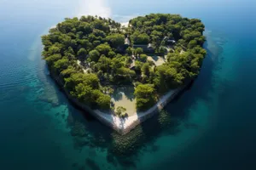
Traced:
[[42, 37], [50, 76], [80, 109], [118, 133], [158, 113], [198, 76], [205, 26], [148, 14], [128, 26], [100, 16], [66, 18]]

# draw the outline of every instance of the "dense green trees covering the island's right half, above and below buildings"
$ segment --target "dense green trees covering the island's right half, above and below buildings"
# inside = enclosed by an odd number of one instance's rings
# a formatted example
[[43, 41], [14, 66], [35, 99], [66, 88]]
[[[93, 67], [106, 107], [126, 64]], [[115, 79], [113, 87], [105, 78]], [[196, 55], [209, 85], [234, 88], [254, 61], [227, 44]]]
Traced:
[[[142, 74], [148, 78], [146, 82], [154, 84], [157, 92], [165, 93], [170, 88], [182, 86], [199, 74], [202, 59], [206, 55], [201, 47], [205, 42], [202, 35], [205, 26], [201, 20], [189, 20], [178, 14], [148, 14], [130, 20], [129, 24], [133, 42], [137, 43], [139, 35], [149, 37], [148, 42], [153, 43], [161, 54], [166, 53], [168, 40], [176, 42], [174, 50], [166, 54], [166, 63], [154, 67], [154, 71], [149, 71], [148, 65], [137, 63]], [[172, 43], [170, 45], [173, 46]]]

